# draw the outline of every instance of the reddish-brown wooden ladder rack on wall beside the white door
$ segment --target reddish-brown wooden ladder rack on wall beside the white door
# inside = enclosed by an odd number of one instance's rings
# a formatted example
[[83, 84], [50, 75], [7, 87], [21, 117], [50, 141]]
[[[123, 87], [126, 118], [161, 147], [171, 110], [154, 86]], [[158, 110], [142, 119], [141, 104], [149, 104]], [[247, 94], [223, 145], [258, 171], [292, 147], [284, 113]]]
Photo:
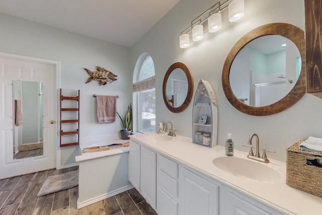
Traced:
[[[74, 100], [77, 102], [77, 108], [62, 108], [62, 102], [64, 100]], [[77, 111], [78, 118], [77, 119], [62, 119], [62, 112], [65, 111]], [[76, 130], [74, 131], [63, 131], [62, 130], [62, 124], [64, 123], [77, 123], [76, 124]], [[77, 135], [76, 141], [75, 142], [68, 142], [68, 143], [62, 143], [61, 137], [63, 135]], [[78, 96], [77, 97], [68, 97], [68, 96], [63, 96], [61, 94], [61, 89], [60, 89], [60, 147], [68, 147], [68, 146], [75, 146], [79, 145], [79, 90], [78, 90]]]

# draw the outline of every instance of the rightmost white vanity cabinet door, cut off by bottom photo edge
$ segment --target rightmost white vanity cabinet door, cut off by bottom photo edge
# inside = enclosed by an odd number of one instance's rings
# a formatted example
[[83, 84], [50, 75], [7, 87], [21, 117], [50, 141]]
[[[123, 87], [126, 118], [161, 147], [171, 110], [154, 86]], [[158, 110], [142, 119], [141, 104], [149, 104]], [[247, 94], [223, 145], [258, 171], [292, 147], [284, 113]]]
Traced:
[[225, 197], [224, 213], [227, 215], [281, 215], [272, 208], [269, 208], [254, 199], [228, 189]]

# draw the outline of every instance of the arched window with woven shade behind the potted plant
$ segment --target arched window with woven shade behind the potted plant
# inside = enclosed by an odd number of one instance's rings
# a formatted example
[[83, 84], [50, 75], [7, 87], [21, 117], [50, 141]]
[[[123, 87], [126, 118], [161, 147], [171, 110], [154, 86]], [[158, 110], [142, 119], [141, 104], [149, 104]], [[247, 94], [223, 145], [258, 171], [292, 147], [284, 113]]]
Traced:
[[133, 130], [155, 131], [154, 63], [147, 53], [136, 61], [133, 76]]

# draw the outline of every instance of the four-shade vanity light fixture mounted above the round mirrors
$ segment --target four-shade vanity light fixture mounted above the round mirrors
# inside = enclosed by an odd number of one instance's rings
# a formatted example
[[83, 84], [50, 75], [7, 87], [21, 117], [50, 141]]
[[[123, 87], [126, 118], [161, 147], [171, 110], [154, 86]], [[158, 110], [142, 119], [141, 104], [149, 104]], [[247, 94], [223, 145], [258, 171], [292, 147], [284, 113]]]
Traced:
[[192, 40], [199, 41], [203, 38], [203, 23], [208, 21], [210, 33], [219, 31], [222, 27], [221, 11], [228, 8], [229, 22], [235, 22], [245, 15], [244, 0], [226, 0], [223, 3], [217, 2], [211, 8], [191, 21], [191, 25], [181, 32], [179, 37], [180, 48], [187, 48], [190, 45], [189, 33], [192, 32]]

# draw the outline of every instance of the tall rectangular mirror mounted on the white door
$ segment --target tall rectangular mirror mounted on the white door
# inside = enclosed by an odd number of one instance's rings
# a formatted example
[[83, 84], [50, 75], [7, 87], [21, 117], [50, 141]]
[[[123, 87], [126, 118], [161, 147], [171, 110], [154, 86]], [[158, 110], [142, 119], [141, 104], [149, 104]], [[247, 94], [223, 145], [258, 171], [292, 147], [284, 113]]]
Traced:
[[42, 83], [13, 81], [14, 159], [43, 155]]

